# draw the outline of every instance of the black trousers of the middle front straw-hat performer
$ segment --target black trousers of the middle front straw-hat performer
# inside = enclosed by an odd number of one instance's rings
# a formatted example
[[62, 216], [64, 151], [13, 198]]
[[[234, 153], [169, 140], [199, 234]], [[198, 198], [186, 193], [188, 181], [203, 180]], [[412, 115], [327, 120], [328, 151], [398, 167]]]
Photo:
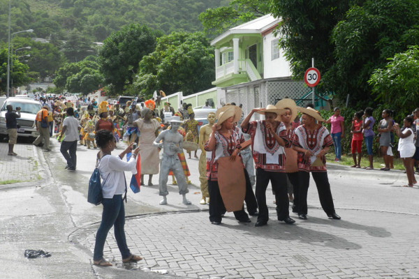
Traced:
[[269, 212], [266, 205], [266, 188], [272, 184], [272, 190], [277, 204], [278, 220], [284, 220], [290, 216], [288, 190], [286, 188], [285, 172], [267, 172], [264, 169], [256, 169], [256, 199], [259, 206], [258, 222], [269, 220]]

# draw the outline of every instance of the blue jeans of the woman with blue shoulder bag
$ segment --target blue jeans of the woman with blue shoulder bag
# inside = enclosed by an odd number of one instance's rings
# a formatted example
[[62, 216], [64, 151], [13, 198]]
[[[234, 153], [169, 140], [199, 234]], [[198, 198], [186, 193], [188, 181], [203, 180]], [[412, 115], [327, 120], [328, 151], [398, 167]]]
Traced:
[[114, 226], [115, 239], [122, 259], [126, 259], [131, 252], [126, 245], [125, 238], [125, 208], [122, 195], [114, 195], [112, 199], [103, 199], [103, 212], [101, 226], [96, 233], [96, 243], [94, 245], [93, 260], [98, 261], [103, 258], [103, 246], [105, 246], [106, 236]]

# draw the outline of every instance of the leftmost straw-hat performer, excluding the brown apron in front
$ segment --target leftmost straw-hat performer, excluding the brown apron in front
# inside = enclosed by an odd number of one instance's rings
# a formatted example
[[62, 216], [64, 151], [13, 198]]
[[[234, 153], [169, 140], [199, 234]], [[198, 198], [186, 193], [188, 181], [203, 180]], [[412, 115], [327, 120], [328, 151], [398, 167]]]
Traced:
[[[222, 110], [220, 112], [220, 110]], [[240, 144], [244, 142], [244, 138], [233, 130], [233, 124], [240, 119], [242, 110], [240, 107], [228, 106], [217, 110], [218, 121], [212, 126], [210, 139], [205, 143], [205, 151], [207, 151], [207, 180], [208, 192], [210, 193], [210, 222], [213, 225], [220, 225], [223, 213], [226, 212], [226, 206], [221, 197], [219, 181], [218, 181], [218, 160], [220, 158], [229, 157], [230, 160], [236, 160], [236, 156], [240, 153]], [[217, 115], [216, 112], [216, 115]], [[240, 158], [241, 160], [241, 158]], [[243, 166], [244, 168], [244, 166]], [[234, 175], [234, 174], [232, 174]], [[243, 174], [244, 175], [244, 174]], [[234, 211], [235, 218], [239, 222], [250, 223], [251, 220], [244, 206], [239, 211]]]

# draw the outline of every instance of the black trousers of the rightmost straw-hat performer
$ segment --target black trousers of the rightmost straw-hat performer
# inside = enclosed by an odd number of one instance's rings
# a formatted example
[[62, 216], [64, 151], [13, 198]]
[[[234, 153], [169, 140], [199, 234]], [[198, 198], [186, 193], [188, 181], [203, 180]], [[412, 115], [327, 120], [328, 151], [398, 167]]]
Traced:
[[[318, 198], [325, 213], [329, 216], [335, 213], [335, 204], [333, 204], [332, 192], [328, 179], [328, 172], [311, 172], [316, 183]], [[307, 214], [307, 193], [309, 191], [310, 173], [298, 172], [297, 187], [294, 186], [294, 195], [297, 197], [298, 214]], [[295, 189], [297, 188], [297, 191]]]

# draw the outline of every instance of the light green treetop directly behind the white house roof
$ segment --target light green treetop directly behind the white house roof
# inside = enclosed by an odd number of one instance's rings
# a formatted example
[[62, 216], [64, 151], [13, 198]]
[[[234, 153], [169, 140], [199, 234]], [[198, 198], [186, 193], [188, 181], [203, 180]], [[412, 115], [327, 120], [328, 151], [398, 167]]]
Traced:
[[228, 6], [208, 8], [198, 19], [207, 34], [216, 35], [256, 17], [270, 13], [270, 2], [265, 0], [232, 0]]

